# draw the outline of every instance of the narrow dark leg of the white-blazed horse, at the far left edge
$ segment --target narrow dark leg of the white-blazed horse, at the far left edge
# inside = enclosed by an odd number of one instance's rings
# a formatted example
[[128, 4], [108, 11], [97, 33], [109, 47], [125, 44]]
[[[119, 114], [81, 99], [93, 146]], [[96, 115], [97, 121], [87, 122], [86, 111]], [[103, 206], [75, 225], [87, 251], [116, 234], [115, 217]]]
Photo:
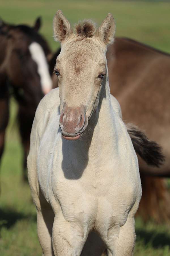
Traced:
[[9, 100], [7, 98], [0, 99], [0, 160], [4, 150], [5, 130], [9, 119]]

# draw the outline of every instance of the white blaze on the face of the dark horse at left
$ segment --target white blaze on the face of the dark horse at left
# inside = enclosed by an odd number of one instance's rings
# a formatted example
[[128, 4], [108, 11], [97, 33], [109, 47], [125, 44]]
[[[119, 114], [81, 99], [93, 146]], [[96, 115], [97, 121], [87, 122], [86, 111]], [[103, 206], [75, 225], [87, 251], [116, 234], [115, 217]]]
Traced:
[[37, 63], [38, 73], [40, 75], [42, 91], [47, 94], [52, 89], [52, 79], [48, 70], [46, 56], [40, 44], [33, 42], [29, 45], [29, 51], [32, 59]]

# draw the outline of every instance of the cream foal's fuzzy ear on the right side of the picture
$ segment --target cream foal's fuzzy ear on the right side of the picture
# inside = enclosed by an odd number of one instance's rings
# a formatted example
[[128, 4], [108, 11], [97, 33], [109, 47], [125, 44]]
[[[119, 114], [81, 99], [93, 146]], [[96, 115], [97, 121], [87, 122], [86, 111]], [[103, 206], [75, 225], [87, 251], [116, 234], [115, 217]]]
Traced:
[[104, 42], [106, 45], [112, 44], [114, 41], [115, 33], [115, 21], [111, 13], [108, 13], [105, 20], [102, 22], [100, 27], [97, 29], [96, 36]]

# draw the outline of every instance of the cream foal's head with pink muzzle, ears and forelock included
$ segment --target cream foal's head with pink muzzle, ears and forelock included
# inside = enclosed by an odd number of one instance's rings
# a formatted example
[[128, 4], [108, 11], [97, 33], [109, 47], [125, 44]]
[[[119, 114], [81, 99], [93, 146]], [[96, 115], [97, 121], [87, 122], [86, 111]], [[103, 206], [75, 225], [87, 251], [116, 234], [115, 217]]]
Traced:
[[106, 50], [113, 42], [115, 23], [108, 14], [96, 30], [85, 20], [75, 26], [59, 10], [54, 17], [54, 37], [61, 43], [55, 73], [60, 96], [59, 125], [65, 139], [79, 139], [96, 110], [107, 77]]

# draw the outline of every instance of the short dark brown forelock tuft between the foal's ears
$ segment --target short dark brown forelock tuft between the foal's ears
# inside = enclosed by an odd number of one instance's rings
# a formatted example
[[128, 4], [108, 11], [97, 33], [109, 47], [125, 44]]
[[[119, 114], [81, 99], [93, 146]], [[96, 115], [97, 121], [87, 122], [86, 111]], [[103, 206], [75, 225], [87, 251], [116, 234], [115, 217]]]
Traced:
[[95, 31], [96, 27], [92, 20], [84, 20], [75, 25], [75, 33], [77, 36], [84, 38], [92, 37]]

